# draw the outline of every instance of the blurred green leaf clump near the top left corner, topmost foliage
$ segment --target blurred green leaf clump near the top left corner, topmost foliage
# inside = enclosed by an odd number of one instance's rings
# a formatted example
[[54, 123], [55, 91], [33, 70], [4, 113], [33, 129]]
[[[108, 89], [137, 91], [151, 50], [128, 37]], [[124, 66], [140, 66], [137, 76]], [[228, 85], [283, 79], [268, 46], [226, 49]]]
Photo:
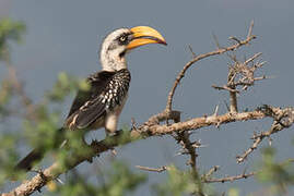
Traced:
[[22, 22], [10, 19], [0, 20], [0, 60], [7, 57], [9, 41], [21, 42], [24, 32], [25, 25]]

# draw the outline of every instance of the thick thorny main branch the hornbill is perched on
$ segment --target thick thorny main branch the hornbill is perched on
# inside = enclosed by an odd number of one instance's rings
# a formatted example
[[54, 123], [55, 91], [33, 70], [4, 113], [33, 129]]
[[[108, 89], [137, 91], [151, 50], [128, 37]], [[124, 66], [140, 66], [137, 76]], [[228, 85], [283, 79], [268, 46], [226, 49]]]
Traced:
[[[275, 114], [280, 114], [280, 113], [285, 113], [286, 111], [293, 112], [293, 108], [280, 109], [280, 108], [271, 107], [271, 111]], [[158, 122], [165, 121], [167, 118], [167, 115], [163, 117], [162, 114], [154, 115], [154, 117], [157, 117]], [[154, 117], [150, 118], [149, 121], [155, 121]], [[72, 168], [79, 166], [81, 162], [90, 160], [92, 157], [98, 156], [102, 152], [111, 150], [114, 147], [129, 144], [134, 139], [173, 134], [177, 132], [186, 132], [189, 130], [198, 130], [198, 128], [207, 127], [211, 125], [222, 125], [222, 124], [236, 122], [236, 121], [258, 120], [258, 119], [263, 119], [267, 117], [271, 117], [271, 113], [268, 113], [268, 111], [264, 111], [264, 110], [255, 110], [250, 112], [242, 112], [242, 113], [235, 113], [235, 114], [225, 113], [222, 115], [213, 114], [210, 117], [195, 118], [195, 119], [187, 120], [184, 122], [174, 123], [168, 126], [166, 124], [146, 125], [148, 123], [144, 123], [141, 126], [139, 126], [137, 130], [132, 130], [130, 132], [129, 138], [124, 139], [124, 144], [121, 144], [120, 142], [121, 140], [120, 136], [122, 134], [121, 132], [119, 132], [117, 135], [110, 136], [111, 142], [109, 142], [109, 139], [104, 139], [101, 142], [92, 142], [91, 144], [92, 151], [84, 156], [75, 157], [73, 155], [72, 157], [74, 157], [75, 159], [68, 161], [68, 166], [66, 170], [62, 169], [62, 167], [60, 166], [60, 162], [57, 161], [52, 163], [50, 167], [48, 167], [47, 169], [45, 169], [42, 175], [36, 174], [34, 177], [24, 182], [19, 187], [13, 189], [11, 193], [3, 194], [3, 196], [30, 195], [34, 193], [35, 191], [40, 189], [44, 185], [46, 185], [47, 182], [55, 180], [56, 177], [58, 177], [60, 174], [64, 173], [66, 171], [71, 170]]]

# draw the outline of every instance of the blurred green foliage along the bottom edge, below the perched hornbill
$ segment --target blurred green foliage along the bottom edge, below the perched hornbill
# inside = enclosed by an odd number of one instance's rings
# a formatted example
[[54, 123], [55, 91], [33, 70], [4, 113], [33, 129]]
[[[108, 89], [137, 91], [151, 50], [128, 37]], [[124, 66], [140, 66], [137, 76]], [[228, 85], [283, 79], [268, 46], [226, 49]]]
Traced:
[[105, 181], [99, 185], [94, 185], [74, 173], [74, 177], [71, 177], [67, 184], [51, 188], [52, 193], [49, 195], [122, 196], [129, 195], [146, 180], [145, 175], [131, 172], [125, 163], [118, 161], [114, 162], [109, 171], [104, 174], [106, 174]]

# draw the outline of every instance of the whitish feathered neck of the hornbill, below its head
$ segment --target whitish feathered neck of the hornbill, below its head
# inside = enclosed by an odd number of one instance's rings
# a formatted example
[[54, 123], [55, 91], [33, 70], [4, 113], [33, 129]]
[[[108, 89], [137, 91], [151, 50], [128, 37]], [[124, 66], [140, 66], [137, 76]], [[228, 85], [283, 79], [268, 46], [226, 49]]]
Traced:
[[119, 54], [101, 53], [102, 70], [108, 72], [116, 72], [122, 69], [127, 69], [126, 57], [119, 57]]

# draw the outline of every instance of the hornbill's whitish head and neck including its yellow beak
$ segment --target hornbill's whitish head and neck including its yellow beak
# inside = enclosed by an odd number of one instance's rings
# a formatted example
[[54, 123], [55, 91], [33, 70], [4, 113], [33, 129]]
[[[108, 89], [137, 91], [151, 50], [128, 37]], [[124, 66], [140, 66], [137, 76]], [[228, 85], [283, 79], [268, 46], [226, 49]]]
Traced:
[[146, 44], [166, 45], [162, 35], [148, 26], [119, 28], [106, 36], [101, 48], [101, 63], [104, 71], [127, 69], [126, 54]]

